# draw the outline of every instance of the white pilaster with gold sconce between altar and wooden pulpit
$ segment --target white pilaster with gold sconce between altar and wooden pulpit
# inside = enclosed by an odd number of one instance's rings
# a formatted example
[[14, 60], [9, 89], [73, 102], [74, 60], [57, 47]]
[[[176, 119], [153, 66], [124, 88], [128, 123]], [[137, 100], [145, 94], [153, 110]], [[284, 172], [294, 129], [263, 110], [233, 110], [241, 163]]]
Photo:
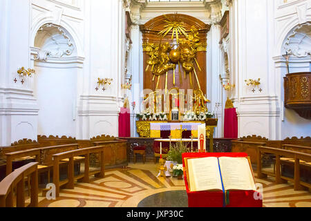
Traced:
[[[279, 137], [276, 119], [280, 117], [273, 76], [274, 1], [234, 0], [232, 21], [232, 69], [236, 84], [238, 135]], [[245, 79], [261, 78], [261, 86], [247, 88]], [[259, 89], [262, 89], [260, 91]]]

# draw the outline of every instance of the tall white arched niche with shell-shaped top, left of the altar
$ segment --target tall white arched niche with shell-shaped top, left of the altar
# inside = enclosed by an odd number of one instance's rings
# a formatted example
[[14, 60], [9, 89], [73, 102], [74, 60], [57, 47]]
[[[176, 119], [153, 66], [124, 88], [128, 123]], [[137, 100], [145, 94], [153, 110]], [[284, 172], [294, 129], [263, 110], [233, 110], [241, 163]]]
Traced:
[[62, 26], [46, 23], [37, 30], [34, 46], [38, 135], [76, 137], [77, 82], [82, 61], [77, 57], [75, 41]]

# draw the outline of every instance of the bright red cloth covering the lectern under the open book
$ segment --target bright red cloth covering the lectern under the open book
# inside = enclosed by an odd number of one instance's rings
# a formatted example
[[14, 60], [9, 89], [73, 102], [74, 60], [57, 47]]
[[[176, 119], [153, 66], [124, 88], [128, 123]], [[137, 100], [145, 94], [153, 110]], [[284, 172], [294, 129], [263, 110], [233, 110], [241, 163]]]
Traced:
[[[185, 157], [247, 157], [247, 153], [182, 153], [182, 164], [184, 167]], [[185, 170], [184, 180], [189, 207], [223, 207], [223, 191], [191, 192], [189, 190], [187, 173]], [[263, 207], [263, 200], [255, 200], [254, 192], [255, 191], [229, 191], [229, 204], [226, 207]]]

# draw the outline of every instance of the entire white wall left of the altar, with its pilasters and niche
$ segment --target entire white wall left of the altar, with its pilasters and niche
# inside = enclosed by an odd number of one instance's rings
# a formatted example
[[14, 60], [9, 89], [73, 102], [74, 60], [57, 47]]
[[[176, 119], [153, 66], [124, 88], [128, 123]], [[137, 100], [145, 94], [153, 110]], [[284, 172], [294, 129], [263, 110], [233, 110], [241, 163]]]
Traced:
[[[3, 0], [0, 6], [0, 146], [36, 140], [39, 133], [77, 139], [117, 135], [125, 48], [122, 1]], [[46, 23], [69, 33], [73, 57], [35, 61], [35, 36]], [[21, 66], [37, 69], [38, 76], [14, 83]], [[96, 92], [98, 77], [113, 83]]]

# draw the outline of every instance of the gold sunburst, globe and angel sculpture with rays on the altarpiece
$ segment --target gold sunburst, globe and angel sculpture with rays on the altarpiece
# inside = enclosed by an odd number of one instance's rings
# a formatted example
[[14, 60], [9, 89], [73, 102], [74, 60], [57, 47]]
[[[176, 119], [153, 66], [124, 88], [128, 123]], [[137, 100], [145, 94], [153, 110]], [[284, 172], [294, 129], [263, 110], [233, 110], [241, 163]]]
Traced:
[[[203, 95], [200, 81], [198, 79], [198, 74], [196, 68], [201, 71], [201, 67], [198, 64], [196, 55], [198, 48], [206, 47], [202, 46], [200, 37], [198, 36], [198, 30], [192, 26], [191, 30], [187, 34], [185, 28], [183, 28], [182, 23], [179, 21], [167, 21], [167, 26], [164, 26], [164, 30], [160, 31], [158, 34], [165, 37], [169, 31], [173, 29], [172, 39], [174, 38], [174, 33], [176, 33], [177, 48], [173, 49], [168, 42], [162, 43], [162, 37], [160, 39], [160, 44], [156, 43], [144, 43], [143, 48], [147, 51], [149, 58], [147, 59], [146, 72], [151, 68], [151, 74], [153, 75], [153, 81], [158, 77], [156, 90], [159, 88], [160, 76], [165, 74], [165, 93], [167, 93], [167, 82], [168, 82], [168, 72], [173, 70], [173, 86], [176, 85], [176, 66], [178, 65], [178, 75], [180, 84], [182, 84], [182, 70], [184, 72], [184, 78], [187, 78], [189, 74], [190, 87], [194, 88], [194, 83], [192, 82], [192, 74], [194, 74], [197, 84], [198, 93], [197, 95], [200, 99], [205, 102], [209, 100]], [[178, 32], [183, 33], [187, 39], [179, 39]]]

